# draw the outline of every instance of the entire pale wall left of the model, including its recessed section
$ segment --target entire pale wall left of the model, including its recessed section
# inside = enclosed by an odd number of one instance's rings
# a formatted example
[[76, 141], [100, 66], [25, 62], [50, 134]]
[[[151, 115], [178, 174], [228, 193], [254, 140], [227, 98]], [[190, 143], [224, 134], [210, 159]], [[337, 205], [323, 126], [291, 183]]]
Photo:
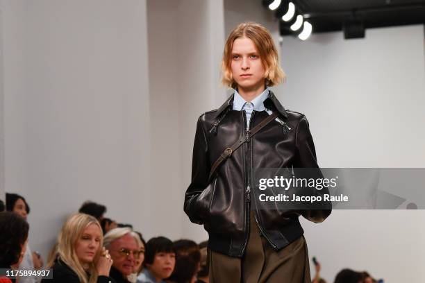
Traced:
[[183, 197], [197, 118], [226, 98], [222, 1], [4, 6], [6, 191], [30, 203], [33, 250], [87, 199], [147, 239], [205, 240]]

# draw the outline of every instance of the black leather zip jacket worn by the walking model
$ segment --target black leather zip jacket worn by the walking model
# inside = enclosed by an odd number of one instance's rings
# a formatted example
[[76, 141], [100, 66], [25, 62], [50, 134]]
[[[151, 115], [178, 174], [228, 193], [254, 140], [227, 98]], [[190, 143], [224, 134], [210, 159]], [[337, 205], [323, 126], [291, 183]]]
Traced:
[[[258, 209], [261, 205], [251, 197], [252, 173], [261, 168], [318, 168], [315, 146], [306, 117], [287, 111], [272, 92], [265, 108], [278, 111], [278, 121], [270, 122], [251, 137], [222, 164], [215, 177], [208, 180], [212, 164], [225, 148], [245, 135], [244, 111], [232, 110], [233, 95], [217, 110], [199, 117], [194, 139], [192, 182], [185, 193], [184, 210], [193, 223], [203, 224], [209, 234], [208, 245], [215, 252], [242, 257], [249, 233], [249, 209], [253, 209], [260, 232], [275, 250], [288, 246], [303, 234], [298, 216], [315, 223], [331, 214], [326, 209]], [[268, 116], [253, 112], [253, 128]], [[244, 136], [242, 136], [244, 137]], [[312, 194], [328, 194], [328, 189]]]

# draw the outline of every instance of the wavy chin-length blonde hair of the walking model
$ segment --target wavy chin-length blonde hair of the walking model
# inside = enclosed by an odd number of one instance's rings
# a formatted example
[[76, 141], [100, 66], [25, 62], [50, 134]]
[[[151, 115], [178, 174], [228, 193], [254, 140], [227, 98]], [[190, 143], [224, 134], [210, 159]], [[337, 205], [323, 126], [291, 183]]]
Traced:
[[279, 66], [278, 52], [274, 45], [272, 35], [264, 26], [254, 23], [245, 22], [239, 24], [230, 35], [227, 37], [226, 45], [224, 46], [222, 59], [222, 84], [226, 87], [237, 86], [233, 79], [231, 70], [232, 48], [233, 42], [240, 37], [247, 37], [253, 41], [258, 53], [260, 53], [261, 62], [265, 67], [265, 85], [272, 87], [278, 85], [285, 80], [285, 73]]

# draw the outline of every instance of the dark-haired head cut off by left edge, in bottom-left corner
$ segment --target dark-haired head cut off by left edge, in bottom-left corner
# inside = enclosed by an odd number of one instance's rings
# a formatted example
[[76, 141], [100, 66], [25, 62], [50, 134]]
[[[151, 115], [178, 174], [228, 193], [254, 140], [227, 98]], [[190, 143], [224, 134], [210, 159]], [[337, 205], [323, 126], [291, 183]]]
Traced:
[[[28, 241], [28, 223], [12, 212], [0, 212], [0, 268], [17, 268], [25, 254]], [[0, 282], [10, 283], [7, 277]]]

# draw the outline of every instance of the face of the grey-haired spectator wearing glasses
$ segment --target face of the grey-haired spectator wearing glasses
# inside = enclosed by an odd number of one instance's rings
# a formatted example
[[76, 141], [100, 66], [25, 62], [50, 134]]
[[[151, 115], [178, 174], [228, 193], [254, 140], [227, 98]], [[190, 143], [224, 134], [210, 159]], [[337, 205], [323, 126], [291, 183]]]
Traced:
[[109, 250], [110, 256], [113, 259], [113, 266], [122, 275], [127, 276], [133, 273], [135, 266], [134, 254], [139, 253], [139, 246], [131, 234], [125, 234], [123, 237], [110, 243]]

